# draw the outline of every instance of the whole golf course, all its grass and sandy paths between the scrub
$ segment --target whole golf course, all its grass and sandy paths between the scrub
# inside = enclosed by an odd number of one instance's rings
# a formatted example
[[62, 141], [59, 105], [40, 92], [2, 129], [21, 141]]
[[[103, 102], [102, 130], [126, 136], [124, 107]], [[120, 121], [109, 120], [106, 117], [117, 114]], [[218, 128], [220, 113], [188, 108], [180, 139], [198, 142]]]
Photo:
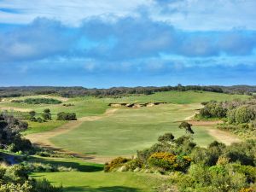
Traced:
[[[119, 156], [131, 157], [156, 143], [160, 135], [172, 132], [175, 137], [187, 133], [178, 128], [183, 120], [193, 125], [195, 113], [202, 108], [201, 102], [212, 100], [246, 100], [250, 96], [228, 95], [205, 91], [166, 91], [152, 95], [122, 96], [119, 98], [93, 96], [64, 98], [60, 96], [20, 96], [0, 102], [2, 111], [26, 116], [31, 110], [37, 115], [49, 108], [52, 120], [38, 123], [28, 120], [28, 129], [23, 136], [38, 146], [49, 148], [65, 155], [63, 158], [38, 157], [32, 162], [50, 163], [75, 169], [73, 172], [34, 172], [32, 177], [47, 178], [54, 185], [62, 185], [65, 191], [117, 191], [150, 192], [155, 186], [168, 180], [160, 174], [144, 172], [103, 172], [103, 164]], [[53, 98], [60, 104], [31, 104], [27, 98]], [[111, 107], [109, 103], [156, 103], [144, 107]], [[66, 107], [68, 105], [68, 107]], [[76, 113], [74, 121], [55, 120], [60, 112]], [[195, 123], [193, 139], [197, 145], [209, 143], [230, 144], [240, 139], [227, 131], [218, 131], [212, 120]]]

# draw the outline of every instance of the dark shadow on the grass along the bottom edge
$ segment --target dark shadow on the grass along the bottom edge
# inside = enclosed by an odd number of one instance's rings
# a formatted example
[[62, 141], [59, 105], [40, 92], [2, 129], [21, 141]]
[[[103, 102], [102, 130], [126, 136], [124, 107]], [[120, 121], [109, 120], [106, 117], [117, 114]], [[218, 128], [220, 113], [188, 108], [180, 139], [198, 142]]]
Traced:
[[64, 188], [65, 192], [140, 192], [140, 189], [122, 187], [122, 186], [113, 186], [113, 187], [99, 187], [92, 189], [90, 187], [67, 187]]

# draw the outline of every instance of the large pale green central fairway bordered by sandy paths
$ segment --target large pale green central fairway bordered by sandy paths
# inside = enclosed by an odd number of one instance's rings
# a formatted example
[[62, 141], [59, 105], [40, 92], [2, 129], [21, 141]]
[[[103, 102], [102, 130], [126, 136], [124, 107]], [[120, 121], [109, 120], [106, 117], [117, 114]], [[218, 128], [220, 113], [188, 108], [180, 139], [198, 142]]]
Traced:
[[[121, 108], [112, 116], [87, 121], [79, 128], [50, 139], [61, 148], [84, 154], [125, 155], [148, 148], [157, 138], [172, 132], [176, 137], [185, 134], [179, 122], [195, 113], [200, 104], [167, 104], [152, 108]], [[205, 146], [213, 141], [203, 127], [194, 127], [195, 142]]]

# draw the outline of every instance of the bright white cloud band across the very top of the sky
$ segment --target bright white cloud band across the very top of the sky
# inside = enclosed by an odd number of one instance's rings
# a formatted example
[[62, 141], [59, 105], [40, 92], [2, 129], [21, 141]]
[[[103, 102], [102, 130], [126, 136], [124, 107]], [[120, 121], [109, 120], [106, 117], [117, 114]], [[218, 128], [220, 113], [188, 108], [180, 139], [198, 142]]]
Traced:
[[78, 26], [84, 18], [93, 16], [148, 13], [153, 20], [185, 30], [256, 30], [255, 0], [2, 0], [0, 8], [20, 12], [0, 12], [0, 23], [28, 23], [47, 17]]

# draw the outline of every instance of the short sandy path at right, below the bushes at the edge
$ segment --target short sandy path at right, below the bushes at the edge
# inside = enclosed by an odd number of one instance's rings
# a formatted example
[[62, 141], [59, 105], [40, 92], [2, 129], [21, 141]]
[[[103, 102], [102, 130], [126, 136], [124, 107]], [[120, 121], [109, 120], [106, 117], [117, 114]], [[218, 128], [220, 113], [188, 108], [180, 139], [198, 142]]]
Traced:
[[221, 120], [214, 121], [198, 121], [198, 120], [189, 120], [189, 124], [195, 126], [206, 126], [209, 135], [214, 137], [218, 142], [230, 145], [231, 143], [241, 142], [241, 139], [236, 137], [234, 134], [229, 131], [218, 130], [215, 125], [222, 123]]

